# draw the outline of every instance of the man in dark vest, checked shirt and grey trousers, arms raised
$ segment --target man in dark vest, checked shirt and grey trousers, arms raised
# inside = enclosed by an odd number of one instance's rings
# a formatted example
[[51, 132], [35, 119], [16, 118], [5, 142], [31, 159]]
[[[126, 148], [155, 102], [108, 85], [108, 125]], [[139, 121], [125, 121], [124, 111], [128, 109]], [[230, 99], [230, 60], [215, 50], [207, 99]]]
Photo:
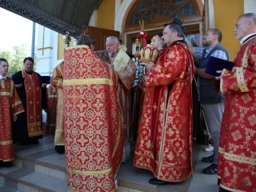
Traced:
[[206, 122], [214, 142], [214, 154], [202, 158], [202, 162], [211, 163], [210, 166], [207, 166], [202, 170], [204, 174], [217, 174], [218, 170], [218, 144], [222, 124], [222, 114], [224, 112], [224, 96], [215, 93], [215, 77], [206, 74], [205, 69], [210, 56], [222, 58], [224, 60], [229, 59], [227, 50], [220, 44], [220, 42], [222, 42], [222, 32], [218, 29], [208, 30], [202, 38], [202, 44], [206, 48], [193, 47], [186, 39], [186, 43], [190, 47], [190, 52], [194, 57], [199, 58], [200, 61], [198, 66], [195, 67], [194, 75], [198, 76], [200, 102], [205, 111]]

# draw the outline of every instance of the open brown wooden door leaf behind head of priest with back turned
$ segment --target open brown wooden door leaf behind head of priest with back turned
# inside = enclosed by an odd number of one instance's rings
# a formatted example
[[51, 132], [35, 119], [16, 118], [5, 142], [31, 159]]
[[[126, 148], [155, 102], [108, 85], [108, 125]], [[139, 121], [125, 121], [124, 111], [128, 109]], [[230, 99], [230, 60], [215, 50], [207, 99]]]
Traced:
[[82, 26], [82, 34], [90, 34], [95, 41], [95, 50], [106, 50], [106, 38], [114, 36], [119, 39], [119, 31], [106, 30], [94, 26]]

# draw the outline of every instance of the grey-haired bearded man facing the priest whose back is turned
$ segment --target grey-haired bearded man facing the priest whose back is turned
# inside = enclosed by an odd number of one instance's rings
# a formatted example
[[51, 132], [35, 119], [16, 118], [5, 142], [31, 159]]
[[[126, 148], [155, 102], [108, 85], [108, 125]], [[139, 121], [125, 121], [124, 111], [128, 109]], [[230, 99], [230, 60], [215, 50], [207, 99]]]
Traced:
[[126, 53], [126, 49], [123, 49], [120, 45], [118, 38], [114, 36], [106, 38], [106, 50], [110, 55], [110, 66], [114, 73], [118, 75], [118, 107], [121, 114], [122, 134], [126, 139], [122, 162], [126, 162], [126, 158], [130, 158], [130, 139], [133, 135], [132, 129], [128, 125], [130, 119], [127, 111], [128, 106], [130, 106], [128, 97], [131, 88], [134, 86], [137, 67]]

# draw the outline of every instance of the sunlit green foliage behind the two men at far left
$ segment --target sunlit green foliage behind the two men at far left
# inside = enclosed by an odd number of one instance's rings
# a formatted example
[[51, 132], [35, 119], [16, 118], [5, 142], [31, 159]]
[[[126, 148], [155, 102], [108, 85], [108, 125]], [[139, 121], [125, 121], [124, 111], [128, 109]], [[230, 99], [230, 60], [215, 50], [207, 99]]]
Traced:
[[[9, 50], [0, 50], [0, 58], [5, 58], [9, 63], [9, 70], [7, 76], [11, 76], [18, 70], [23, 68], [23, 59], [27, 57], [26, 52], [28, 50], [27, 45], [14, 46], [14, 52]], [[37, 58], [34, 57], [34, 67], [36, 66]]]

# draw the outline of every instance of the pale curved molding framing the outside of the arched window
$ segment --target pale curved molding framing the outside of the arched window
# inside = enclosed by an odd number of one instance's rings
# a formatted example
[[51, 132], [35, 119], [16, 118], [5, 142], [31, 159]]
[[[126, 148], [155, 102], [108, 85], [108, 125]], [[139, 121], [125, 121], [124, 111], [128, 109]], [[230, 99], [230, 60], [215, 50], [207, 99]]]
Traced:
[[[202, 11], [204, 9], [204, 0], [195, 0], [198, 3], [198, 8], [200, 10], [200, 14], [202, 16]], [[121, 6], [118, 9], [118, 12], [116, 14], [115, 20], [114, 20], [114, 30], [122, 31], [125, 28], [126, 25], [126, 18], [128, 14], [130, 13], [130, 9], [132, 6], [134, 6], [134, 3], [138, 2], [137, 0], [126, 0], [123, 1]]]

